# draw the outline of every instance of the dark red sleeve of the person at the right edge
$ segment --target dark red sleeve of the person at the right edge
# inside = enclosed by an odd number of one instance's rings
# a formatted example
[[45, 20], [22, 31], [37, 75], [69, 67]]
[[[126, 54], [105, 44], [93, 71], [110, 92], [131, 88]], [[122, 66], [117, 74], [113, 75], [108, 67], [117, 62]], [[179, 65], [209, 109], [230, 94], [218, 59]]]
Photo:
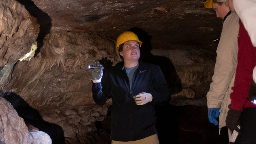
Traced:
[[248, 101], [252, 84], [252, 72], [256, 65], [256, 48], [253, 47], [247, 31], [241, 21], [238, 38], [237, 71], [233, 92], [230, 94], [230, 108], [242, 110], [243, 107], [255, 106]]

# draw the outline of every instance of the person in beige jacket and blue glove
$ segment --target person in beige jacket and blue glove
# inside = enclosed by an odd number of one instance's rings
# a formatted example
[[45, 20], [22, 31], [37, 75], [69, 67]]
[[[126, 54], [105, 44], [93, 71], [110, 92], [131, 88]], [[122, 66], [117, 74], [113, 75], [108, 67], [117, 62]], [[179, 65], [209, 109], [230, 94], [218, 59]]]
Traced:
[[[231, 87], [234, 86], [237, 67], [237, 34], [239, 29], [239, 17], [234, 11], [232, 0], [212, 1], [212, 8], [216, 11], [217, 16], [220, 9], [218, 6], [220, 1], [223, 3], [222, 8], [226, 7], [231, 11], [231, 14], [223, 22], [221, 38], [216, 51], [217, 58], [214, 75], [212, 76], [210, 90], [207, 92], [208, 118], [212, 124], [219, 126], [219, 131], [222, 127], [226, 126], [225, 120], [229, 110], [228, 105], [231, 102], [229, 95], [232, 92]], [[229, 137], [231, 137], [230, 131]]]

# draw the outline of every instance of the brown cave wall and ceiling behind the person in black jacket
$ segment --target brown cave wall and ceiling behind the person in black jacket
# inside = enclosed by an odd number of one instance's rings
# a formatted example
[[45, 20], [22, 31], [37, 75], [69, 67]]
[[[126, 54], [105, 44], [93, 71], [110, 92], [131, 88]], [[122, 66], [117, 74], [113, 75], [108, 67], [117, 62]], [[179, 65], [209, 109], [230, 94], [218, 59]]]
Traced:
[[[95, 105], [87, 66], [120, 61], [115, 39], [126, 30], [143, 41], [141, 59], [161, 67], [173, 105], [206, 105], [221, 19], [204, 0], [17, 1], [0, 1], [0, 89], [53, 143], [98, 143], [111, 100]], [[18, 61], [36, 41], [35, 56]]]

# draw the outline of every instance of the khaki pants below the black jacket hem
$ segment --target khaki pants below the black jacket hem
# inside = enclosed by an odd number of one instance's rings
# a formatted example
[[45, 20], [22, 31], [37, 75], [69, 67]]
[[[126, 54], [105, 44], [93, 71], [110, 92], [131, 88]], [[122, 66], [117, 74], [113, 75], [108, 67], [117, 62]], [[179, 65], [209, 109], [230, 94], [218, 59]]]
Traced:
[[159, 144], [157, 134], [146, 137], [144, 139], [136, 140], [136, 141], [115, 141], [112, 140], [111, 144]]

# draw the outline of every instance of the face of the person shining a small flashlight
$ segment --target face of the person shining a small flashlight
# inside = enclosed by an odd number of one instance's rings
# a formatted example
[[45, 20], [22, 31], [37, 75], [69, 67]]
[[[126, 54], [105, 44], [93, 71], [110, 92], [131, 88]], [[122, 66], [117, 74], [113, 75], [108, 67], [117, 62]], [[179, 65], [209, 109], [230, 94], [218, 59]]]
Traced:
[[119, 53], [123, 56], [124, 62], [138, 61], [140, 58], [140, 45], [136, 41], [125, 42], [123, 50]]

